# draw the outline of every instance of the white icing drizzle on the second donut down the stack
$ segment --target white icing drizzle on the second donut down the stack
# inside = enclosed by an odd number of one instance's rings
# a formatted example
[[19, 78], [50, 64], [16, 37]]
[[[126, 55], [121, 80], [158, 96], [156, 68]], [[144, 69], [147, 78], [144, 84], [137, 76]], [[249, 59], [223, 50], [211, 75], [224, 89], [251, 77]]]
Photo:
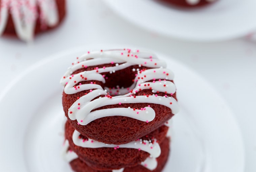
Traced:
[[134, 148], [138, 150], [143, 150], [145, 152], [148, 152], [153, 158], [157, 158], [161, 154], [161, 148], [157, 141], [155, 140], [154, 143], [148, 140], [141, 140], [138, 139], [136, 141], [132, 141], [126, 144], [120, 144], [120, 145], [115, 145], [115, 144], [105, 144], [102, 142], [98, 142], [96, 140], [92, 140], [88, 138], [87, 140], [84, 140], [82, 138], [79, 138], [80, 133], [75, 130], [72, 139], [75, 145], [81, 146], [81, 147], [86, 147], [86, 148], [99, 148], [99, 147], [113, 147], [115, 149], [117, 148]]

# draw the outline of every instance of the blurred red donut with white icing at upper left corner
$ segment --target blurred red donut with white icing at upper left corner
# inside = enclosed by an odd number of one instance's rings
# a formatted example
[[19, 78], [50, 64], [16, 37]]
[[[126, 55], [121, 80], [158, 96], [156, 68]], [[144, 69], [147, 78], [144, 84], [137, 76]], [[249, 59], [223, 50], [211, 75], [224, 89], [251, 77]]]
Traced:
[[65, 0], [0, 0], [0, 35], [31, 41], [63, 20]]

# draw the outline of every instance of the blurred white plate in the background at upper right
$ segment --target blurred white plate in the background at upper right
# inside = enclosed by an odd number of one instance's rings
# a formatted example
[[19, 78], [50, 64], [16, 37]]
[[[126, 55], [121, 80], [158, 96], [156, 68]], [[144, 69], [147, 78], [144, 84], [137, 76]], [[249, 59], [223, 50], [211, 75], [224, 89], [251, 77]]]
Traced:
[[161, 35], [192, 41], [220, 41], [256, 29], [255, 0], [218, 0], [196, 9], [164, 6], [158, 0], [105, 0], [130, 22]]

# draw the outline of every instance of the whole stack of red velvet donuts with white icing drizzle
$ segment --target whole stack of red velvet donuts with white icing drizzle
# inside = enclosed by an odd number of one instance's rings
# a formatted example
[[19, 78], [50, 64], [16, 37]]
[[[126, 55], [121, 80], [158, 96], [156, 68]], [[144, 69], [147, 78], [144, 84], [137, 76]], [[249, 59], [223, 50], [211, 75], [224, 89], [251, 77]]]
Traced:
[[77, 57], [61, 79], [64, 158], [76, 172], [159, 172], [168, 120], [179, 111], [173, 73], [154, 53], [117, 49]]

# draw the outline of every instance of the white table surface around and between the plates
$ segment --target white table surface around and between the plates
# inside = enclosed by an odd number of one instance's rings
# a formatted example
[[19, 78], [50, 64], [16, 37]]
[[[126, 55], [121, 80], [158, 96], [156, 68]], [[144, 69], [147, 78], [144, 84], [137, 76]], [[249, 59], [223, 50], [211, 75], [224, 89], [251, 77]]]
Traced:
[[170, 55], [195, 70], [219, 90], [231, 107], [243, 134], [245, 172], [256, 171], [256, 42], [245, 38], [213, 43], [174, 40], [129, 23], [102, 1], [68, 0], [64, 23], [37, 36], [33, 43], [0, 38], [0, 93], [33, 63], [53, 53], [90, 44], [99, 44], [99, 48], [100, 44], [145, 47]]

